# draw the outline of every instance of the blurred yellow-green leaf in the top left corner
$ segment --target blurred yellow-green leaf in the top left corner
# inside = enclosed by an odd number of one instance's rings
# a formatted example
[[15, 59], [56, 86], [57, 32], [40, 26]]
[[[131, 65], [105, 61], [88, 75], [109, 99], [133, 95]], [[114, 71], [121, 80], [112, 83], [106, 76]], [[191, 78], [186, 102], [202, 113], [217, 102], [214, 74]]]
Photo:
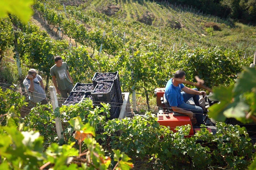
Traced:
[[31, 8], [33, 4], [33, 0], [1, 0], [0, 18], [7, 17], [8, 14], [16, 14], [24, 23], [27, 23], [33, 14]]

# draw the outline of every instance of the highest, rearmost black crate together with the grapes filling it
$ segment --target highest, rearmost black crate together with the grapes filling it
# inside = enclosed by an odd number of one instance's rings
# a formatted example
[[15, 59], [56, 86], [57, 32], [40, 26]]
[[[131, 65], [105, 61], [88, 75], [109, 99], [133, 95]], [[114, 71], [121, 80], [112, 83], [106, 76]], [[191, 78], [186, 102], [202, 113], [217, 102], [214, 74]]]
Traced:
[[123, 103], [123, 98], [122, 98], [122, 91], [121, 91], [118, 71], [116, 71], [114, 73], [98, 73], [98, 72], [96, 72], [92, 78], [94, 87], [96, 87], [98, 81], [106, 81], [106, 80], [114, 80], [114, 88], [117, 93], [118, 103], [121, 106]]

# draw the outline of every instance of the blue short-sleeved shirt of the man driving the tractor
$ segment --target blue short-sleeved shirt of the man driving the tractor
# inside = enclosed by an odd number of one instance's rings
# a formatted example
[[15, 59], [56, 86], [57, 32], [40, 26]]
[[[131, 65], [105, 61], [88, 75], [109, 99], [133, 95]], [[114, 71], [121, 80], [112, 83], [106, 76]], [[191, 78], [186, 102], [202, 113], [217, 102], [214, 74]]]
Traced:
[[183, 84], [179, 84], [177, 87], [174, 86], [172, 84], [172, 78], [167, 82], [164, 95], [170, 106], [179, 106], [184, 102], [180, 92], [183, 87]]

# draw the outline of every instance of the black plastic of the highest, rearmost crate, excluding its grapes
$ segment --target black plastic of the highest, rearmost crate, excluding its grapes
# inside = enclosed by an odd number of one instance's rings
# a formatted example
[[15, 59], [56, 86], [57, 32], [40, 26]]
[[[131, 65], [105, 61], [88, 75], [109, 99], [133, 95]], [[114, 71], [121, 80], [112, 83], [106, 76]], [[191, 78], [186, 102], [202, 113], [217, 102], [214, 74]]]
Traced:
[[[103, 75], [106, 75], [106, 74], [114, 74], [115, 75], [115, 78], [113, 79], [114, 80], [114, 87], [115, 87], [115, 90], [116, 90], [116, 93], [117, 93], [117, 99], [119, 100], [118, 103], [120, 103], [120, 105], [122, 105], [123, 103], [123, 100], [122, 98], [120, 98], [120, 96], [122, 96], [122, 91], [121, 91], [121, 86], [120, 86], [120, 80], [119, 80], [119, 74], [118, 74], [118, 71], [114, 72], [114, 73], [98, 73], [96, 72], [92, 78], [92, 82], [93, 82], [93, 85], [96, 87], [98, 81], [96, 81], [96, 77], [99, 75], [99, 74], [103, 74]], [[107, 80], [100, 80], [100, 81], [107, 81]]]

